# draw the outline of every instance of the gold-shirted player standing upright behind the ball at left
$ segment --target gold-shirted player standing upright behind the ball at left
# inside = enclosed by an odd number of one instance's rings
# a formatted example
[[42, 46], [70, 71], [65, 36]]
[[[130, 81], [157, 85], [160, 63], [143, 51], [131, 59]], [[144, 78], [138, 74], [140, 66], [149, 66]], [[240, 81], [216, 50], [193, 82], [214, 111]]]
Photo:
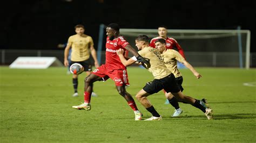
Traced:
[[[95, 61], [95, 67], [98, 68], [98, 60], [95, 48], [93, 47], [93, 40], [89, 35], [84, 34], [84, 26], [76, 25], [75, 26], [75, 35], [71, 35], [68, 40], [68, 44], [66, 45], [64, 51], [64, 65], [69, 67], [73, 63], [80, 63], [84, 67], [84, 71], [86, 71], [86, 75], [91, 74], [92, 66], [90, 62], [90, 51], [93, 60]], [[68, 56], [71, 51], [71, 63], [69, 63]], [[90, 50], [90, 51], [89, 51]], [[72, 96], [78, 96], [78, 75], [73, 74], [72, 77], [74, 94]], [[92, 96], [97, 96], [94, 92], [92, 92]]]

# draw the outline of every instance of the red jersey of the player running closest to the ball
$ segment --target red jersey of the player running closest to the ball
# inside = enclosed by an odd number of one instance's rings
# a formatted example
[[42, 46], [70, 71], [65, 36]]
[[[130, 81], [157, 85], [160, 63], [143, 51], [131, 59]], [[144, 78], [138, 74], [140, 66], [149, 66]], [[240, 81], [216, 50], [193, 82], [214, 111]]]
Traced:
[[[120, 36], [113, 41], [107, 37], [106, 40], [106, 62], [105, 65], [107, 67], [107, 70], [114, 70], [114, 69], [126, 69], [126, 67], [123, 65], [123, 63], [120, 61], [119, 56], [117, 55], [117, 50], [119, 48], [124, 48], [126, 45], [128, 45], [129, 42], [127, 42], [123, 36]], [[124, 52], [125, 53], [125, 52]]]

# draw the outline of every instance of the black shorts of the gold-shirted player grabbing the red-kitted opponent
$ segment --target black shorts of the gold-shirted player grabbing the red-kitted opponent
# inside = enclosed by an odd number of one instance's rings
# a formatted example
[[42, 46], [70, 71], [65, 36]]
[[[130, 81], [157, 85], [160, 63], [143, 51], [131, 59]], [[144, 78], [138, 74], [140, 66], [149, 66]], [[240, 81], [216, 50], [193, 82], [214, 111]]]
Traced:
[[149, 94], [155, 94], [162, 89], [164, 89], [166, 92], [176, 93], [180, 91], [180, 86], [172, 73], [164, 78], [154, 79], [151, 83], [146, 83], [145, 87], [143, 88], [143, 90]]

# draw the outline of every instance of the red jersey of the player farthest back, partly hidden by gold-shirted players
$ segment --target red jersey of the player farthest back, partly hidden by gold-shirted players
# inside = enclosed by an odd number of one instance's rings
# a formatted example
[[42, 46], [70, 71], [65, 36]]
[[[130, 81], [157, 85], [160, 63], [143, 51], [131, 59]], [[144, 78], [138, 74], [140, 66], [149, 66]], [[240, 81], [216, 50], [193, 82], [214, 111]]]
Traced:
[[[161, 37], [156, 37], [156, 38], [151, 39], [150, 47], [156, 48], [156, 46], [154, 45], [154, 41], [156, 41], [157, 39], [160, 39], [160, 38]], [[167, 37], [167, 39], [165, 39], [165, 41], [166, 41], [167, 49], [177, 48], [178, 52], [185, 58], [183, 49], [180, 47], [180, 45], [178, 44], [178, 42], [175, 39]]]

